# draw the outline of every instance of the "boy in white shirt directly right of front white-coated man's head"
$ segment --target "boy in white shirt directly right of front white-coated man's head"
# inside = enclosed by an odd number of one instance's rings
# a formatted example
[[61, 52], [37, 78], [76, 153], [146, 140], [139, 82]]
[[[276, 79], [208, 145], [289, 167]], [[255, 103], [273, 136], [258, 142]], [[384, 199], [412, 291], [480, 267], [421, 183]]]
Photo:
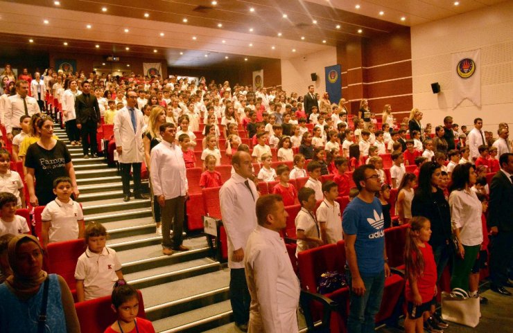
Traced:
[[301, 210], [297, 213], [295, 219], [296, 237], [297, 237], [297, 253], [313, 249], [324, 244], [320, 235], [320, 228], [315, 218], [315, 192], [311, 188], [302, 188], [297, 193], [297, 199], [301, 204]]

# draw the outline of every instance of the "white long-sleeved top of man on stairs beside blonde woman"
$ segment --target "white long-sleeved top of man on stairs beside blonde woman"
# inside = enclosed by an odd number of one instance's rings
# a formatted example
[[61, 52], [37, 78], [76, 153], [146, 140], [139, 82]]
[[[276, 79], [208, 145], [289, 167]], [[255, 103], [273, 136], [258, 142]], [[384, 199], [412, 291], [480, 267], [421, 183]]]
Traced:
[[150, 180], [153, 193], [164, 199], [183, 197], [189, 190], [180, 145], [162, 141], [151, 150]]

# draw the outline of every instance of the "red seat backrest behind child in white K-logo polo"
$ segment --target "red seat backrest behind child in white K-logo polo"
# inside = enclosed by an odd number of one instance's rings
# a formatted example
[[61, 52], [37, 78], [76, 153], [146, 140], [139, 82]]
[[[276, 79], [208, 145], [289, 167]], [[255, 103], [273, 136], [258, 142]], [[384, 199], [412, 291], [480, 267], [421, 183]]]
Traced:
[[59, 274], [66, 280], [69, 289], [76, 289], [75, 268], [78, 257], [84, 253], [85, 240], [67, 240], [50, 243], [46, 247], [49, 258], [49, 273]]

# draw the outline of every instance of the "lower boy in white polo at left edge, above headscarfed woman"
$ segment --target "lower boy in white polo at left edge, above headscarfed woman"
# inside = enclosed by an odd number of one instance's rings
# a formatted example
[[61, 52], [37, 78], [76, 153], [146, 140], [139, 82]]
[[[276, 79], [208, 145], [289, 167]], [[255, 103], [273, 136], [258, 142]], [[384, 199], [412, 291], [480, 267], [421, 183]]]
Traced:
[[16, 215], [18, 198], [9, 192], [0, 192], [0, 236], [11, 233], [31, 233], [25, 217]]

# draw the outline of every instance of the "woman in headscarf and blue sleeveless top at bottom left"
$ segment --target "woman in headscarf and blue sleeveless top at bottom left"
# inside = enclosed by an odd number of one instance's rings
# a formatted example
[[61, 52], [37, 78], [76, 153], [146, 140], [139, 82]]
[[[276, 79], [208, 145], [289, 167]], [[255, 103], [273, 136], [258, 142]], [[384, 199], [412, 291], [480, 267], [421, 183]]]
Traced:
[[[71, 291], [61, 276], [42, 270], [43, 250], [37, 239], [12, 238], [8, 259], [12, 276], [0, 285], [0, 332], [36, 333], [38, 325], [45, 326], [44, 332], [80, 332]], [[40, 321], [45, 288], [46, 321]]]

